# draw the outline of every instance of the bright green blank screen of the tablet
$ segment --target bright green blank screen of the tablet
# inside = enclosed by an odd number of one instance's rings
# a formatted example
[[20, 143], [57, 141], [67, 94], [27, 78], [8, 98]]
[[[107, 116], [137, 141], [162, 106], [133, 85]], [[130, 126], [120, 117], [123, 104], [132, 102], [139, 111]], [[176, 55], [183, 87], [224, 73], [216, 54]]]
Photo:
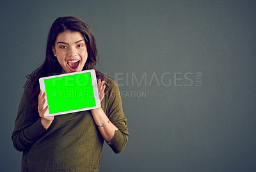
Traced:
[[90, 72], [45, 79], [49, 114], [95, 106]]

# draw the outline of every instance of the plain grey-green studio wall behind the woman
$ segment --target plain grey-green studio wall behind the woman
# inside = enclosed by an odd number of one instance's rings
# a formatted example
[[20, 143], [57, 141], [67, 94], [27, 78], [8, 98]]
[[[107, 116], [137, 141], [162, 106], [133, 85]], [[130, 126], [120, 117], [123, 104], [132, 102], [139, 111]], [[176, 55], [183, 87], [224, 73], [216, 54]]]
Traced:
[[255, 171], [255, 1], [1, 1], [0, 171], [20, 171], [15, 117], [60, 16], [92, 29], [118, 82], [124, 152], [100, 171]]

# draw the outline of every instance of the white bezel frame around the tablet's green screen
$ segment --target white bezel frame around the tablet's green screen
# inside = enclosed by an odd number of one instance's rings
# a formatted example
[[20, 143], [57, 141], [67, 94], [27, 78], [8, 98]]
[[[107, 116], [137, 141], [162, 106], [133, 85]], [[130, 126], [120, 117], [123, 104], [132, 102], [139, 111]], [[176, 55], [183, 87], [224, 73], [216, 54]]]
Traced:
[[[86, 107], [83, 109], [75, 109], [75, 110], [71, 110], [71, 111], [63, 111], [60, 113], [49, 113], [49, 109], [46, 111], [46, 115], [45, 116], [56, 116], [56, 115], [60, 115], [60, 114], [67, 114], [67, 113], [76, 113], [76, 112], [80, 112], [80, 111], [87, 111], [87, 110], [91, 110], [91, 109], [97, 109], [99, 107], [101, 107], [100, 104], [100, 98], [99, 98], [99, 91], [98, 91], [98, 86], [97, 86], [97, 77], [95, 74], [95, 70], [91, 69], [91, 70], [83, 70], [81, 72], [72, 72], [72, 73], [68, 73], [68, 74], [60, 74], [60, 75], [53, 75], [53, 76], [49, 76], [49, 77], [41, 77], [39, 79], [39, 84], [40, 84], [40, 90], [43, 90], [45, 92], [45, 84], [44, 81], [45, 79], [51, 79], [51, 78], [56, 78], [56, 77], [64, 77], [64, 76], [68, 76], [68, 75], [79, 75], [79, 74], [84, 74], [84, 73], [88, 73], [90, 72], [91, 74], [91, 78], [92, 78], [92, 88], [93, 88], [93, 94], [94, 94], [94, 99], [95, 99], [95, 106], [93, 107]], [[46, 93], [46, 97], [47, 97], [47, 93]], [[47, 106], [47, 100], [45, 103], [45, 107]], [[45, 108], [44, 107], [44, 108]]]

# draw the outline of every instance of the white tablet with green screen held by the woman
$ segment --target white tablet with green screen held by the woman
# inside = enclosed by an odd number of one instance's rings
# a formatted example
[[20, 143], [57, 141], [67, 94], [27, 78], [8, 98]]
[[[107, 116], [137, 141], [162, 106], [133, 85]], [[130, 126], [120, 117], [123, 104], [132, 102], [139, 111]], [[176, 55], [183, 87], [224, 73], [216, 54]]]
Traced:
[[95, 70], [41, 77], [40, 89], [46, 92], [46, 116], [87, 111], [100, 107]]

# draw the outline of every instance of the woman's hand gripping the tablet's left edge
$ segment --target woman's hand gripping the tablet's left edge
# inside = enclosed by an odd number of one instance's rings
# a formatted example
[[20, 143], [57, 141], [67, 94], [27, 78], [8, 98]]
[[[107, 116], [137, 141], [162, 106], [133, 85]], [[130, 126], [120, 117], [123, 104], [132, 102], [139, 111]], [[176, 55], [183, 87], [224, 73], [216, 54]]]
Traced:
[[46, 105], [46, 93], [40, 90], [39, 96], [38, 96], [38, 113], [41, 117], [41, 123], [44, 126], [45, 129], [48, 129], [54, 120], [54, 116], [45, 116], [46, 111], [48, 110], [49, 106]]

